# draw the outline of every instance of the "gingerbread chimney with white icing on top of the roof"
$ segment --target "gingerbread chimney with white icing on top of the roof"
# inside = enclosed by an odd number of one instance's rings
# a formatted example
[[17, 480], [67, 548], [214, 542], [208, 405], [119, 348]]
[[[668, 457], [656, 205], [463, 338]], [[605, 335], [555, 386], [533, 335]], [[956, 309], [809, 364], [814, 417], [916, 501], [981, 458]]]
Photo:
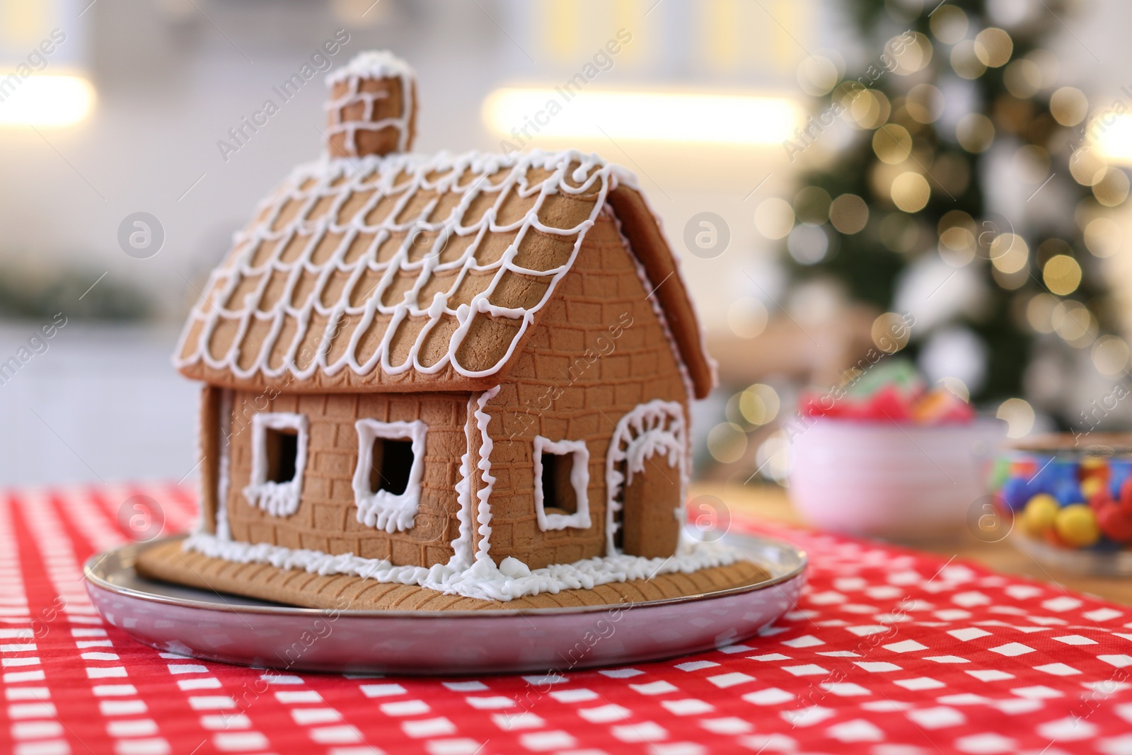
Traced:
[[387, 51], [363, 52], [326, 77], [332, 157], [409, 152], [417, 130], [417, 77]]

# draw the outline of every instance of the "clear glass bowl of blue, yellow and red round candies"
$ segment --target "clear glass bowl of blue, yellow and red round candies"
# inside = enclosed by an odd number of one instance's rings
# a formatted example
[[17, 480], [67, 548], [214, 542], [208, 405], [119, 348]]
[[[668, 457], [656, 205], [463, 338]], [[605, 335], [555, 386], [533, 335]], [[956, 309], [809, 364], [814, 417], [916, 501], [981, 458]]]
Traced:
[[1132, 574], [1132, 435], [1015, 444], [995, 477], [1018, 548], [1065, 572]]

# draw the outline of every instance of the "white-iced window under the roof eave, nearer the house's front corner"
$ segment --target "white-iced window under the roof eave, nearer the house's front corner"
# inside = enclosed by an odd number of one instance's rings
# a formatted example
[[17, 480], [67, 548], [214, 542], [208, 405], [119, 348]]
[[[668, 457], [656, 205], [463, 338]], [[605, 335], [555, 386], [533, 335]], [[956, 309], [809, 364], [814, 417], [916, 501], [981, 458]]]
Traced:
[[354, 504], [358, 521], [386, 532], [412, 529], [420, 506], [428, 427], [412, 422], [363, 419], [358, 430]]

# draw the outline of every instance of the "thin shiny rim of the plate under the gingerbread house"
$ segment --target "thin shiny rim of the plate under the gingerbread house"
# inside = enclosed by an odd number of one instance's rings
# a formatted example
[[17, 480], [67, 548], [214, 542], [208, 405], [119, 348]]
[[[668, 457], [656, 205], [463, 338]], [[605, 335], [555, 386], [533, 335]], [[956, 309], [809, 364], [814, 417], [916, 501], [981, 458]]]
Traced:
[[[143, 600], [151, 603], [162, 603], [168, 606], [179, 606], [181, 608], [188, 608], [192, 610], [204, 610], [204, 611], [223, 611], [232, 614], [260, 614], [266, 616], [289, 616], [289, 617], [326, 617], [327, 615], [335, 615], [336, 617], [344, 618], [413, 618], [413, 619], [445, 619], [445, 618], [514, 618], [516, 616], [566, 616], [566, 615], [582, 615], [582, 614], [595, 614], [595, 612], [608, 612], [610, 609], [620, 608], [623, 610], [637, 609], [637, 608], [654, 608], [662, 606], [670, 606], [676, 603], [689, 603], [704, 600], [717, 600], [720, 598], [729, 598], [734, 595], [741, 595], [748, 592], [757, 592], [762, 590], [769, 590], [775, 587], [806, 574], [806, 569], [809, 566], [809, 555], [792, 542], [786, 540], [780, 540], [778, 538], [771, 538], [761, 534], [747, 534], [743, 533], [741, 538], [746, 540], [754, 540], [756, 542], [769, 543], [774, 547], [790, 550], [798, 558], [798, 566], [790, 569], [786, 574], [782, 574], [770, 580], [764, 580], [762, 582], [755, 582], [749, 585], [743, 585], [739, 587], [728, 587], [726, 590], [718, 590], [713, 592], [696, 593], [694, 595], [681, 595], [679, 598], [663, 598], [660, 600], [649, 600], [641, 602], [628, 602], [628, 603], [601, 603], [600, 606], [566, 606], [561, 608], [512, 608], [512, 609], [500, 609], [500, 608], [488, 608], [483, 610], [454, 610], [454, 611], [397, 611], [397, 610], [380, 610], [380, 609], [335, 609], [335, 608], [305, 608], [300, 606], [235, 606], [232, 603], [220, 602], [213, 603], [203, 600], [195, 600], [191, 598], [171, 598], [168, 595], [160, 595], [157, 593], [145, 592], [142, 590], [136, 590], [134, 587], [127, 587], [123, 585], [114, 584], [105, 580], [97, 572], [101, 564], [111, 557], [114, 557], [117, 561], [122, 563], [128, 557], [135, 557], [136, 554], [140, 552], [145, 548], [154, 547], [162, 542], [169, 542], [172, 540], [182, 540], [187, 534], [173, 535], [168, 538], [155, 538], [153, 540], [147, 540], [145, 542], [130, 542], [118, 548], [111, 548], [110, 550], [102, 551], [101, 554], [94, 554], [83, 564], [83, 577], [87, 582], [87, 590], [97, 589], [103, 592], [108, 592], [114, 595], [131, 598], [135, 600]], [[748, 559], [749, 560], [749, 559]], [[132, 564], [128, 566], [130, 569], [135, 569]], [[136, 569], [135, 569], [136, 573]], [[218, 599], [223, 601], [223, 593], [216, 593]]]

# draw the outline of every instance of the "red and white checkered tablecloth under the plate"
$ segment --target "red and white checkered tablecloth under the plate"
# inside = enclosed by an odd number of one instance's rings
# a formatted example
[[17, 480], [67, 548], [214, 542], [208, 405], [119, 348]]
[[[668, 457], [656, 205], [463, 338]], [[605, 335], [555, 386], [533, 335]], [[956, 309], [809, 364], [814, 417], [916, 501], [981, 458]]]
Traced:
[[[122, 501], [175, 486], [9, 491], [0, 505], [0, 752], [1132, 753], [1132, 609], [794, 530], [798, 610], [740, 645], [564, 676], [281, 675], [158, 653], [103, 624], [83, 561]], [[762, 527], [763, 531], [769, 531]]]

